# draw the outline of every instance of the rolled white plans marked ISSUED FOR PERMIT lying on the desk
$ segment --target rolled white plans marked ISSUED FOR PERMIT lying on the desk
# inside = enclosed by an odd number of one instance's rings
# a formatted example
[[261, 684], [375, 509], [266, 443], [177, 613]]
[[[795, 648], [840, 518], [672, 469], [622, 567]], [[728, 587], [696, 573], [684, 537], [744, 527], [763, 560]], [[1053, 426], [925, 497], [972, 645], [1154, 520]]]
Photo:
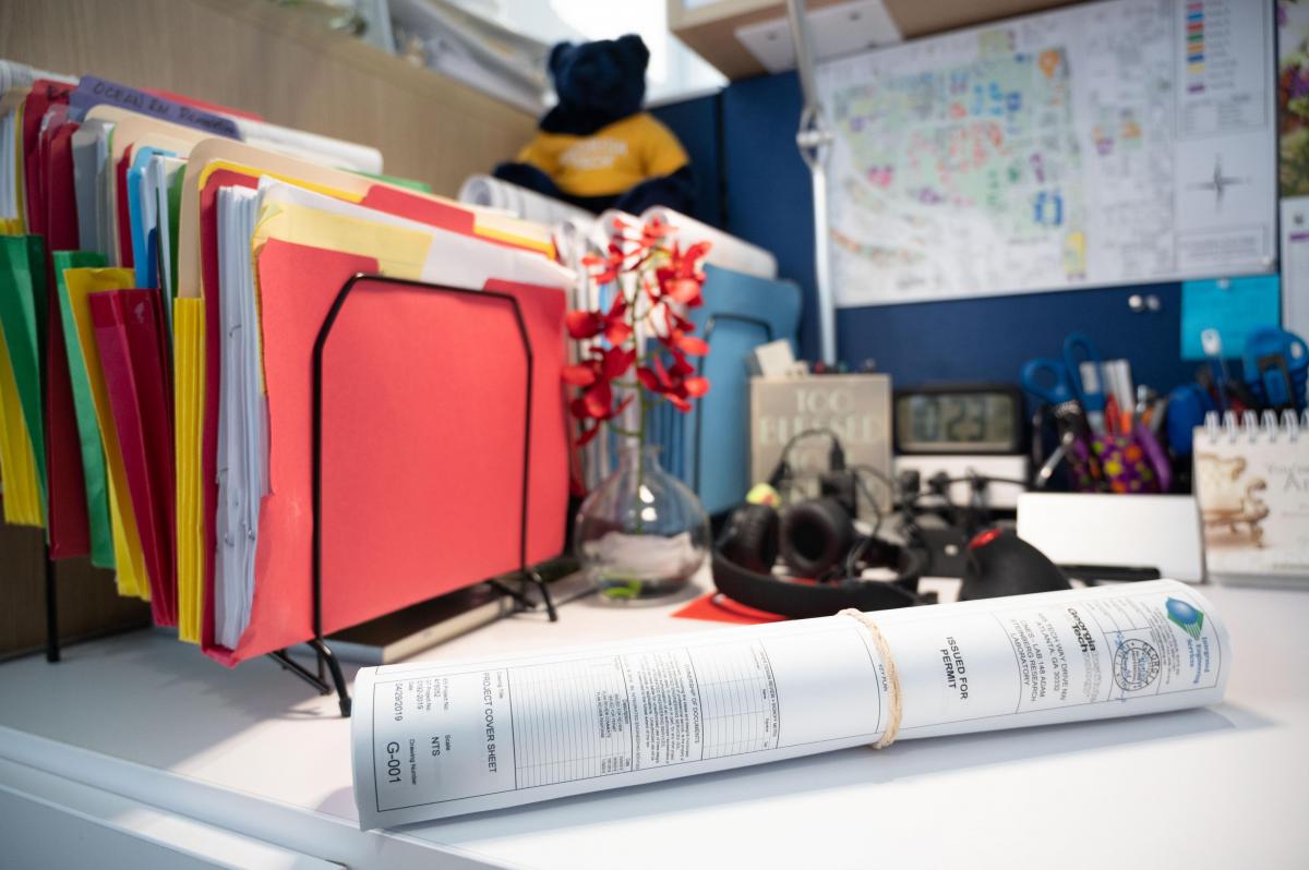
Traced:
[[1169, 580], [869, 616], [367, 667], [360, 826], [873, 744], [897, 713], [907, 740], [1200, 706], [1232, 669], [1217, 614]]

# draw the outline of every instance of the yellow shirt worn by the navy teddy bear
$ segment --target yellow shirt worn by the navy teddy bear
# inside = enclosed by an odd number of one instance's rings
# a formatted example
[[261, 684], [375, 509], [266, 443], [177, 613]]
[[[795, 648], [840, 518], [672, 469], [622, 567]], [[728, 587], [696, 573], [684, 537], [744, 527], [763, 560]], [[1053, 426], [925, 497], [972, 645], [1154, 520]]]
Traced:
[[538, 132], [518, 154], [573, 196], [613, 196], [647, 178], [670, 175], [686, 152], [653, 115], [637, 113], [589, 136]]

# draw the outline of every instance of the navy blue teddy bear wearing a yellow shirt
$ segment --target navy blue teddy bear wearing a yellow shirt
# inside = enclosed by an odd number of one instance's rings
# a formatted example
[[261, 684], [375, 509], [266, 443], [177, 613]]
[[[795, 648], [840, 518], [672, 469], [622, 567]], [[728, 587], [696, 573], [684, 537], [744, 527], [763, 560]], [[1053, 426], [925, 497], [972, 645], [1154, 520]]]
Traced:
[[600, 39], [550, 50], [559, 103], [541, 119], [518, 162], [495, 177], [590, 212], [640, 215], [652, 205], [687, 213], [694, 205], [691, 166], [673, 132], [649, 113], [640, 37]]

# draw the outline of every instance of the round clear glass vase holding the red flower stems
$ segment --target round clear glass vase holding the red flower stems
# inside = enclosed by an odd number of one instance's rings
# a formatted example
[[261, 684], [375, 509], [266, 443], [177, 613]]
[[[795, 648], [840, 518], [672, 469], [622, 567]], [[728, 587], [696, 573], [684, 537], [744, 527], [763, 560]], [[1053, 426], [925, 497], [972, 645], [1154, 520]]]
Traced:
[[704, 564], [709, 521], [695, 493], [664, 471], [657, 446], [630, 442], [581, 502], [573, 548], [601, 598], [657, 598], [685, 589]]

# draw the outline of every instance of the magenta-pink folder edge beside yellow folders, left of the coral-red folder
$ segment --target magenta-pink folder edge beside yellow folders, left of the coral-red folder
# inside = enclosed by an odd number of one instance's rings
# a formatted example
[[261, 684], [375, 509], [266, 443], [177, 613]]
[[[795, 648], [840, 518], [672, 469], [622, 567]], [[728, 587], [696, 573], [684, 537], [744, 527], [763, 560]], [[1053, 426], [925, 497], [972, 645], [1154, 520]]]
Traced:
[[109, 290], [89, 301], [151, 581], [151, 612], [157, 625], [175, 625], [171, 386], [160, 353], [160, 292]]

